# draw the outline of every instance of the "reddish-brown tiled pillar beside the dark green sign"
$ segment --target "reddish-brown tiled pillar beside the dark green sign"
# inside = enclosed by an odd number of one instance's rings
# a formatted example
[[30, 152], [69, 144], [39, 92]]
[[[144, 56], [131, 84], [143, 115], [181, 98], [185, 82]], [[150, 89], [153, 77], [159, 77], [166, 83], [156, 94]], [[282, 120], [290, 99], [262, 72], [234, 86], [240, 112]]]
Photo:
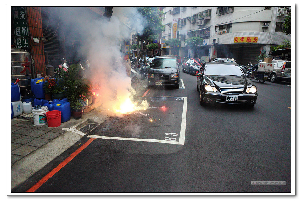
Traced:
[[[46, 74], [45, 57], [43, 48], [43, 32], [42, 32], [42, 16], [41, 7], [26, 7], [28, 28], [31, 35], [31, 55], [34, 59], [34, 77], [36, 74]], [[33, 41], [33, 38], [38, 38], [39, 43]], [[43, 75], [42, 75], [43, 76]]]

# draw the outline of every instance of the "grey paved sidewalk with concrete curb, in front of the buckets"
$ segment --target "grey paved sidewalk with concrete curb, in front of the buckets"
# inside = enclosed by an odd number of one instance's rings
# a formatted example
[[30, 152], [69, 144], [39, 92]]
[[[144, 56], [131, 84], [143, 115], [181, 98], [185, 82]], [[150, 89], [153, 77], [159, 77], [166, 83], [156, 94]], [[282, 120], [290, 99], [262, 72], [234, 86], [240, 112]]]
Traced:
[[[132, 84], [135, 97], [140, 97], [148, 89], [147, 79]], [[93, 107], [92, 107], [93, 108]], [[59, 127], [36, 126], [32, 116], [11, 120], [11, 189], [25, 182], [31, 175], [42, 169], [70, 146], [86, 135], [82, 128], [88, 123], [100, 124], [107, 118], [102, 106], [85, 112], [81, 119], [73, 117]], [[89, 109], [88, 109], [89, 110]], [[30, 115], [30, 114], [29, 114]], [[82, 130], [83, 131], [83, 130]]]

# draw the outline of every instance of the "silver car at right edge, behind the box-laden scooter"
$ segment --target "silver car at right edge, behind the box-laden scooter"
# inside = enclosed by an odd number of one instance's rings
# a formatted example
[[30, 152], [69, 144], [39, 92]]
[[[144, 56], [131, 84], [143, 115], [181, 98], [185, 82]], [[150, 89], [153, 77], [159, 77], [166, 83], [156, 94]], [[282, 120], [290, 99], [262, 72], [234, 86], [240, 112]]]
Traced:
[[286, 60], [272, 60], [274, 63], [273, 72], [271, 73], [271, 82], [276, 80], [290, 81], [291, 62]]

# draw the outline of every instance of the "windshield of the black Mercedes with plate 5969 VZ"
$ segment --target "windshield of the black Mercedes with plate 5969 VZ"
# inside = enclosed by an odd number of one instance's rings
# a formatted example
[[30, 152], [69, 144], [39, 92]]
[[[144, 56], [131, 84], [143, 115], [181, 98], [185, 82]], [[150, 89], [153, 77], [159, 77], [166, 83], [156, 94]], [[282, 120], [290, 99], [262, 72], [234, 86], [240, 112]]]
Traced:
[[243, 76], [243, 72], [236, 65], [208, 64], [205, 68], [204, 75]]

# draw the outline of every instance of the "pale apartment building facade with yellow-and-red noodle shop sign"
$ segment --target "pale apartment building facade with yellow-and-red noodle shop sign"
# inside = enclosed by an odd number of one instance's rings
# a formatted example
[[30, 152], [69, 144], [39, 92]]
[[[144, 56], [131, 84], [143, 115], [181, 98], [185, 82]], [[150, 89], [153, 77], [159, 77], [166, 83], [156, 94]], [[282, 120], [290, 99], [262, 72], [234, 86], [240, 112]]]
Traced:
[[[283, 32], [290, 6], [178, 6], [160, 9], [165, 25], [161, 39], [165, 41], [173, 36], [180, 39], [181, 47], [174, 48], [173, 53], [182, 58], [190, 57], [189, 47], [185, 44], [190, 37], [203, 39], [203, 45], [198, 47], [199, 56], [207, 56], [209, 60], [234, 58], [240, 64], [254, 64], [256, 56], [268, 56], [270, 46], [291, 41], [291, 35]], [[172, 22], [177, 22], [176, 33]], [[168, 55], [169, 47], [161, 46], [161, 54]], [[196, 51], [194, 55], [197, 57]]]

